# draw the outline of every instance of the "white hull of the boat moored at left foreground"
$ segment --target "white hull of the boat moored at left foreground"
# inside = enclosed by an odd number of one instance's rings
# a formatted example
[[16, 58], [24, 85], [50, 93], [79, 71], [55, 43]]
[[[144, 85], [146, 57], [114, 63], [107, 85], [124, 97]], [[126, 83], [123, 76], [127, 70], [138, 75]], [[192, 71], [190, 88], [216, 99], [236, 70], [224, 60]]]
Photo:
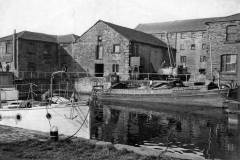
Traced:
[[[50, 132], [52, 126], [59, 134], [89, 138], [89, 108], [87, 105], [72, 107], [69, 104], [36, 106], [32, 108], [0, 109], [0, 125]], [[47, 118], [47, 114], [50, 115]], [[84, 124], [83, 124], [84, 123]]]

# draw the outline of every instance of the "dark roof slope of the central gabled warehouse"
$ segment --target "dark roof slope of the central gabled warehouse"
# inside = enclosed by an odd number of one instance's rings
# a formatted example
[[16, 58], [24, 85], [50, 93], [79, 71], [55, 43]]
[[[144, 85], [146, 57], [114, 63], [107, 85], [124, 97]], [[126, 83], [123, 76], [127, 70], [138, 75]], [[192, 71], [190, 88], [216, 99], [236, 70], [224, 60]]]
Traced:
[[116, 32], [120, 33], [121, 35], [123, 35], [125, 38], [127, 38], [130, 41], [150, 44], [150, 45], [154, 45], [154, 46], [167, 47], [166, 43], [164, 43], [163, 41], [159, 40], [158, 38], [156, 38], [150, 34], [140, 32], [140, 31], [137, 31], [134, 29], [122, 27], [122, 26], [112, 24], [109, 22], [105, 22], [102, 20], [100, 20], [100, 21], [107, 24], [112, 29], [114, 29]]

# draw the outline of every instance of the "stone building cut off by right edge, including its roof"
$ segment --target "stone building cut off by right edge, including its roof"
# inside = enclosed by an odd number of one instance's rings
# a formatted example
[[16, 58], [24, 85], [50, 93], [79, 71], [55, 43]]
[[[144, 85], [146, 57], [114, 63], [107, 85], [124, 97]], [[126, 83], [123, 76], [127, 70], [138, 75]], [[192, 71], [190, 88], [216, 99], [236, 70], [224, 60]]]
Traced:
[[220, 72], [222, 81], [240, 83], [240, 14], [206, 23], [209, 33], [209, 76]]

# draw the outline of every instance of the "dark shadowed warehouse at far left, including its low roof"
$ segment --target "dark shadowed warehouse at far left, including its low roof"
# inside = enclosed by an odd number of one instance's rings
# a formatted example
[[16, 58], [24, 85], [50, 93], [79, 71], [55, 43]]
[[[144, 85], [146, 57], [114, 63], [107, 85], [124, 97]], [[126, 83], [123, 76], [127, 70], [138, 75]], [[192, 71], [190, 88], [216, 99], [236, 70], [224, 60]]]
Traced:
[[[16, 78], [32, 78], [41, 72], [53, 72], [72, 62], [72, 44], [76, 35], [55, 36], [23, 31], [0, 38], [0, 70], [14, 72]], [[66, 47], [67, 46], [67, 47]], [[70, 51], [69, 51], [70, 50]], [[29, 73], [32, 72], [32, 73]]]

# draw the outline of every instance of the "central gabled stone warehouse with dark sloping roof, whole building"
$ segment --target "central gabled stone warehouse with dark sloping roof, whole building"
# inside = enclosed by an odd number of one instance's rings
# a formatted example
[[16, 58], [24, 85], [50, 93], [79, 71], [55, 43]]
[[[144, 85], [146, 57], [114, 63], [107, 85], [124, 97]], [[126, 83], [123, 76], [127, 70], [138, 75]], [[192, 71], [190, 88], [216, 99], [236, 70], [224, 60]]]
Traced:
[[158, 38], [102, 20], [74, 44], [73, 57], [93, 76], [115, 73], [121, 80], [133, 72], [156, 73], [170, 64], [167, 45]]

